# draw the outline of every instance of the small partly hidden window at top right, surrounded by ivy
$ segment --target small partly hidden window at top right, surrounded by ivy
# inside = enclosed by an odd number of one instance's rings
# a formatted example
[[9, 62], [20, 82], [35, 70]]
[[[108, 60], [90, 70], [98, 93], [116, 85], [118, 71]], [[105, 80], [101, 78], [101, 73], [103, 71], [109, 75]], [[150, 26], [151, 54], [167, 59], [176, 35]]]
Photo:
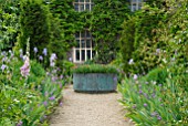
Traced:
[[130, 10], [136, 11], [142, 9], [143, 0], [130, 0]]

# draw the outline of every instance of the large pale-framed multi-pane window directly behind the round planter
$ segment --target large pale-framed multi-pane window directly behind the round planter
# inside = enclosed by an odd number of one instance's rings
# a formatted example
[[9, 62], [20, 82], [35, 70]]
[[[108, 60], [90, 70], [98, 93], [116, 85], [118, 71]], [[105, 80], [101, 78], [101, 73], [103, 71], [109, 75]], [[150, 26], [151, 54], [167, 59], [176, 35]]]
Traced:
[[83, 63], [86, 60], [92, 60], [94, 56], [94, 43], [92, 41], [92, 34], [85, 30], [75, 34], [76, 45], [73, 48], [73, 62]]

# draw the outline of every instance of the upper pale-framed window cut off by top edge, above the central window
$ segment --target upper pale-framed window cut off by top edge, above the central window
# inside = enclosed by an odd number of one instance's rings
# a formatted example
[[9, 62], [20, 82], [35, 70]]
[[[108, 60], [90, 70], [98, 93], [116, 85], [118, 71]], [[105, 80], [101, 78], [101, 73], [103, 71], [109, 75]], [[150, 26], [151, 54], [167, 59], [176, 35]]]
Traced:
[[74, 4], [74, 9], [79, 12], [85, 10], [91, 11], [94, 6], [92, 0], [75, 0], [73, 4]]

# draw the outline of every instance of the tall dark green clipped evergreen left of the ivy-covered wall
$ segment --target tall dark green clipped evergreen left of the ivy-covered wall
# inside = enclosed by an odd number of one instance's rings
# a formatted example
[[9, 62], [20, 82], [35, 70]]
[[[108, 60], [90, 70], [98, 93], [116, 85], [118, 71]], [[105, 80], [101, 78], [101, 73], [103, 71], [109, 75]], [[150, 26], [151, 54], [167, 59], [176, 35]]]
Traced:
[[[42, 4], [42, 0], [23, 0], [20, 23], [19, 48], [25, 49], [27, 39], [30, 38], [31, 49], [36, 46], [42, 52], [51, 41], [49, 8]], [[34, 56], [33, 50], [30, 50], [30, 54]]]

